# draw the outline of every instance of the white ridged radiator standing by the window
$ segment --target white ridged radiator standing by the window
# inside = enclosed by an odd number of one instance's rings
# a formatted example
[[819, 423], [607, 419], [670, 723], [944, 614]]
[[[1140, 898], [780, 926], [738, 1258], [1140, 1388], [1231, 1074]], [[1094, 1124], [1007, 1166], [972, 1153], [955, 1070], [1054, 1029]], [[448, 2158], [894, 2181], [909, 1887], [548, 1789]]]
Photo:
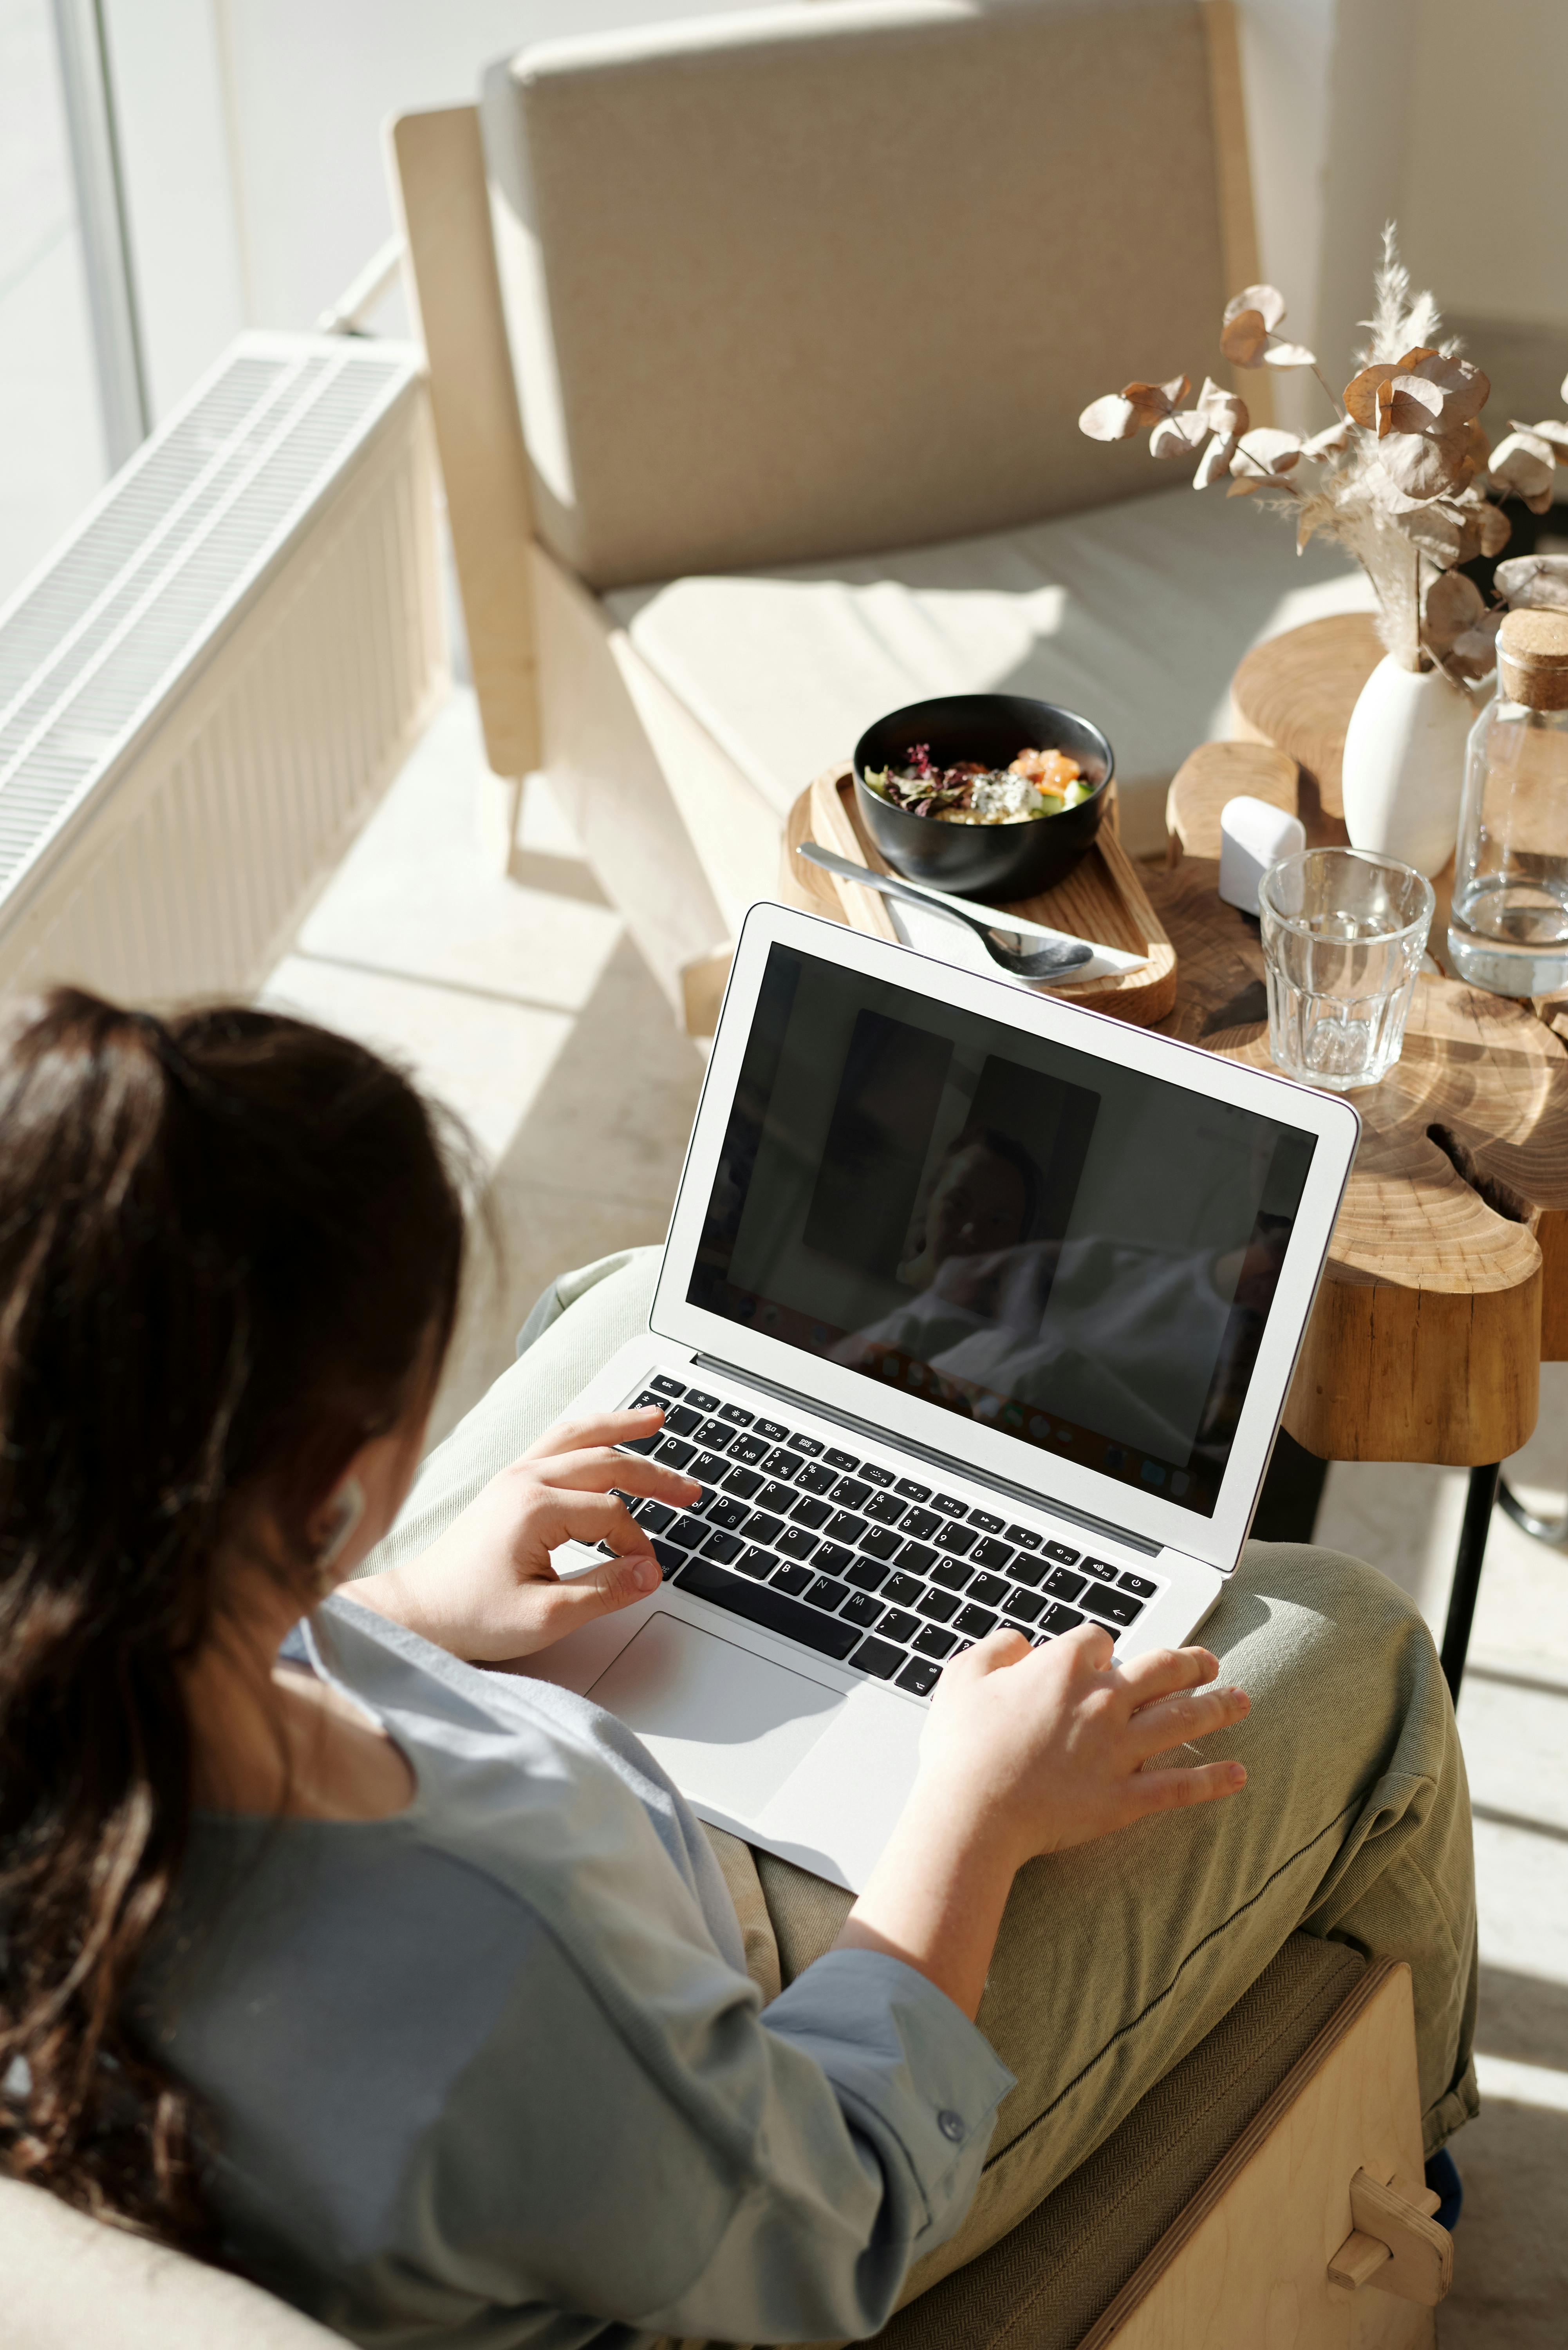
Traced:
[[449, 684], [421, 369], [242, 336], [0, 609], [0, 989], [277, 959]]

